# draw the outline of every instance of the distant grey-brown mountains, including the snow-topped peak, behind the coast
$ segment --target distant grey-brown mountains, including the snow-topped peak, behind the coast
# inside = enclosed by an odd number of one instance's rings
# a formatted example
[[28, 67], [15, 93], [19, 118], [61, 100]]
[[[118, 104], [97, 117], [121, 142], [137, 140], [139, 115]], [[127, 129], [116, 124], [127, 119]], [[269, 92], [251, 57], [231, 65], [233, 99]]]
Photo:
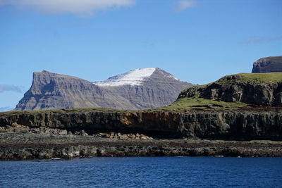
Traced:
[[130, 70], [104, 82], [89, 82], [78, 77], [43, 70], [33, 73], [30, 89], [16, 111], [46, 108], [142, 109], [166, 106], [192, 86], [180, 82], [159, 68]]

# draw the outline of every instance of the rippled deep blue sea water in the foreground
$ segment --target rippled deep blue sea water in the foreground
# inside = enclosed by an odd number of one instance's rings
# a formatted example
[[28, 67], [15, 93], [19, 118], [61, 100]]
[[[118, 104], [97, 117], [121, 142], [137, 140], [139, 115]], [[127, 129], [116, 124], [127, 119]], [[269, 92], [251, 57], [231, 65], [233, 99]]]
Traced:
[[1, 161], [0, 187], [282, 187], [282, 158]]

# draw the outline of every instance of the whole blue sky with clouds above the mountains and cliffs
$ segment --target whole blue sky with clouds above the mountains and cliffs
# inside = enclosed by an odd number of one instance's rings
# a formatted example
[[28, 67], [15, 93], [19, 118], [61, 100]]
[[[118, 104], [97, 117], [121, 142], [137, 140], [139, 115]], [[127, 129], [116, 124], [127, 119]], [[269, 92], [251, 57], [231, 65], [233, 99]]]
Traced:
[[157, 67], [206, 84], [281, 55], [281, 0], [0, 0], [0, 111], [42, 70], [94, 82]]

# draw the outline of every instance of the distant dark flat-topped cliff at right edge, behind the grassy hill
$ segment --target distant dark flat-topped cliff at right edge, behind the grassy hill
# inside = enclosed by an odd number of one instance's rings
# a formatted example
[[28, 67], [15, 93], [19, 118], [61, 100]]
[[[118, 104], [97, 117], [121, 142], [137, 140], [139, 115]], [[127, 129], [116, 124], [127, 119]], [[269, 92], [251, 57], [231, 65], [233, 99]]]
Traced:
[[252, 68], [252, 73], [282, 72], [282, 56], [259, 58]]

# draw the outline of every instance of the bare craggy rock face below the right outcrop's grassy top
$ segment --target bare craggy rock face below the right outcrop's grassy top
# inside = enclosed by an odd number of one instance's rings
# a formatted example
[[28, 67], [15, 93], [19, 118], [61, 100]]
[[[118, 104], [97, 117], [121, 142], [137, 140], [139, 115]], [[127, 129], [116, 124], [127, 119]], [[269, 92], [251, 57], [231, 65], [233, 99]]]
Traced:
[[181, 92], [183, 97], [200, 96], [225, 102], [243, 102], [255, 106], [282, 106], [282, 82], [214, 82], [207, 87], [191, 87]]

